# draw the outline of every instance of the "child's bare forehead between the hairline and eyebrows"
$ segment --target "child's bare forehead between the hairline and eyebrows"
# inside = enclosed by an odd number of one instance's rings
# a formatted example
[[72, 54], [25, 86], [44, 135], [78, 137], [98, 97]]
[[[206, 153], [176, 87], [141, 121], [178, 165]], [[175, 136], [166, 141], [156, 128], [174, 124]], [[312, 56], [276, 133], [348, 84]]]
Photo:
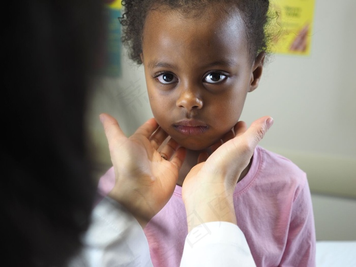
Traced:
[[[168, 13], [167, 13], [168, 12]], [[201, 65], [237, 58], [247, 58], [248, 48], [244, 23], [239, 14], [225, 17], [212, 15], [212, 10], [198, 17], [179, 11], [153, 10], [147, 15], [142, 52], [147, 61], [165, 58]]]

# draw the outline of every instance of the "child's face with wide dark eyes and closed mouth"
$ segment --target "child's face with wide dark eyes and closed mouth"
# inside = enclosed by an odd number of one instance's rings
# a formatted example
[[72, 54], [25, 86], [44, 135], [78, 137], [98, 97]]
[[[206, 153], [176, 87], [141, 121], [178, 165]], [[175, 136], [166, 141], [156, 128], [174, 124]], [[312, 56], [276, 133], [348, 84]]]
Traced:
[[238, 12], [199, 18], [153, 10], [143, 30], [142, 62], [152, 112], [180, 145], [203, 150], [239, 121], [262, 62], [251, 63]]

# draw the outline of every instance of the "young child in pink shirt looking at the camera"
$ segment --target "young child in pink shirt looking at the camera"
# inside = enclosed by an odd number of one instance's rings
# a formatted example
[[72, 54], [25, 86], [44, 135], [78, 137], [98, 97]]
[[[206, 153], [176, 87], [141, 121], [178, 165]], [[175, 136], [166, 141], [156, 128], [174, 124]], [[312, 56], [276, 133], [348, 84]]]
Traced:
[[[209, 147], [239, 121], [247, 93], [258, 86], [269, 1], [141, 0], [123, 5], [123, 41], [131, 59], [144, 66], [153, 114], [187, 149], [172, 198], [144, 229], [154, 266], [179, 266], [187, 216], [192, 225], [199, 219], [194, 212], [186, 214], [181, 186], [198, 155], [209, 154]], [[211, 206], [225, 209], [214, 201]], [[257, 266], [315, 265], [307, 177], [288, 159], [257, 147], [235, 186], [234, 209]], [[191, 245], [204, 236], [200, 232]]]

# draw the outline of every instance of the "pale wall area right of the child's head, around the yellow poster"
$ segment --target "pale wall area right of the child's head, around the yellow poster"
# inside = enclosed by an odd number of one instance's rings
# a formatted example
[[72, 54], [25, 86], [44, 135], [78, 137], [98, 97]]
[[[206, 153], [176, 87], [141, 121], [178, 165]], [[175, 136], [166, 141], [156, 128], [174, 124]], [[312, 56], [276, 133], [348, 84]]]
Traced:
[[242, 118], [275, 118], [264, 146], [356, 158], [356, 2], [316, 0], [311, 55], [275, 55]]

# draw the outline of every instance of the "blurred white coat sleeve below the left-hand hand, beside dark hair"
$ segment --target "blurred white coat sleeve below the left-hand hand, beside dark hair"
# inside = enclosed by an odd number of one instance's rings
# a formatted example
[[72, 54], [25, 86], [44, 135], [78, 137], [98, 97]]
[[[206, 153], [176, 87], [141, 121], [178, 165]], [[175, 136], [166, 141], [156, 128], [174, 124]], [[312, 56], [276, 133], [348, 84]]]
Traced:
[[83, 249], [70, 267], [152, 267], [149, 244], [137, 220], [116, 201], [105, 197], [92, 213]]

